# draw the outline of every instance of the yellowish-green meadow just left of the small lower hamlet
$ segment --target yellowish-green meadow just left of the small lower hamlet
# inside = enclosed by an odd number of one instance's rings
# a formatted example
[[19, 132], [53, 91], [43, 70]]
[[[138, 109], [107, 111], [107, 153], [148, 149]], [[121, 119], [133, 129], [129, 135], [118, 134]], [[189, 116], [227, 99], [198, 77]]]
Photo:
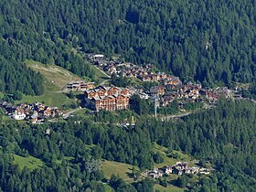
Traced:
[[[134, 166], [134, 168], [139, 170], [137, 166]], [[112, 175], [118, 175], [126, 182], [133, 182], [133, 178], [129, 177], [129, 174], [133, 171], [133, 165], [114, 161], [104, 161], [102, 162], [102, 171], [107, 179], [111, 178]]]

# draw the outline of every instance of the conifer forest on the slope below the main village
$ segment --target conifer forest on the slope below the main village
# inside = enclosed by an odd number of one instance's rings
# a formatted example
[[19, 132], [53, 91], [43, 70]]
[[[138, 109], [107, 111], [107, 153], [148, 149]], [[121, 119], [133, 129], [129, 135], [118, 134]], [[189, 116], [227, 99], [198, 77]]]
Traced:
[[[0, 128], [0, 186], [3, 191], [105, 191], [101, 171], [88, 172], [86, 162], [114, 160], [152, 168], [157, 143], [212, 162], [214, 174], [189, 184], [194, 191], [254, 191], [256, 107], [251, 101], [219, 101], [216, 108], [176, 122], [141, 117], [134, 128], [113, 123], [70, 119], [64, 123], [3, 124]], [[109, 116], [112, 118], [112, 116]], [[106, 122], [110, 121], [104, 116]], [[101, 123], [100, 123], [101, 122]], [[50, 128], [51, 133], [45, 133]], [[91, 149], [88, 146], [93, 146]], [[12, 154], [33, 155], [44, 162], [34, 171], [20, 169]], [[71, 161], [67, 156], [72, 157]], [[60, 163], [58, 163], [60, 162]], [[110, 184], [117, 191], [152, 191], [146, 179], [133, 186], [118, 177]], [[145, 190], [144, 187], [149, 187]], [[142, 187], [142, 188], [141, 188]]]

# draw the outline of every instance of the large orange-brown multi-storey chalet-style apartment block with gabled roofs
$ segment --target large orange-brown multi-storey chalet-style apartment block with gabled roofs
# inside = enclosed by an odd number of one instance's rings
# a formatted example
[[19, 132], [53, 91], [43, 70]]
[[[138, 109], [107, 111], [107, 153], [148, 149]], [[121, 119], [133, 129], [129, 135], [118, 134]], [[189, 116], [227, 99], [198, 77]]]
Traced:
[[114, 112], [129, 108], [131, 94], [128, 89], [99, 86], [84, 93], [85, 100], [93, 102], [93, 108], [96, 112], [101, 110]]

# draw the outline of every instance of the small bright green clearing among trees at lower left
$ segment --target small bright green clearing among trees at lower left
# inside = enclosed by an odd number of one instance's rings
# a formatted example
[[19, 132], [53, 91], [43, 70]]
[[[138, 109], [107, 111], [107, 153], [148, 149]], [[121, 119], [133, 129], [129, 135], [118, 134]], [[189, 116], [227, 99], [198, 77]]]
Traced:
[[27, 166], [28, 169], [36, 169], [44, 165], [40, 159], [30, 155], [28, 157], [14, 155], [14, 158], [15, 164], [18, 165], [21, 169], [23, 169], [25, 166]]

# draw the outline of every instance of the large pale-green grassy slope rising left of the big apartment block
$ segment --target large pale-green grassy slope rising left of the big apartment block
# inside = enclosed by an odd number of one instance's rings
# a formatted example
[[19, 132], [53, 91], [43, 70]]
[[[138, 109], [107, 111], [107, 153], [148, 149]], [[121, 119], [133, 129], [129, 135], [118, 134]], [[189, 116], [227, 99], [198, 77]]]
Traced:
[[[54, 64], [43, 64], [41, 62], [26, 59], [24, 61], [28, 69], [32, 69], [42, 76], [42, 86], [44, 88], [44, 93], [41, 95], [23, 95], [22, 102], [36, 102], [43, 101], [50, 106], [63, 107], [63, 105], [69, 106], [72, 102], [77, 102], [76, 98], [69, 99], [67, 93], [69, 90], [66, 89], [66, 85], [73, 80], [83, 80], [80, 76], [75, 75], [67, 69], [63, 69]], [[93, 80], [97, 82], [102, 82], [108, 78], [101, 73], [100, 69], [95, 67], [91, 68], [93, 74], [95, 74]], [[92, 81], [90, 78], [85, 77], [85, 81]], [[0, 95], [1, 97], [1, 95]], [[3, 96], [2, 96], [3, 97]], [[21, 101], [16, 101], [19, 103]]]

